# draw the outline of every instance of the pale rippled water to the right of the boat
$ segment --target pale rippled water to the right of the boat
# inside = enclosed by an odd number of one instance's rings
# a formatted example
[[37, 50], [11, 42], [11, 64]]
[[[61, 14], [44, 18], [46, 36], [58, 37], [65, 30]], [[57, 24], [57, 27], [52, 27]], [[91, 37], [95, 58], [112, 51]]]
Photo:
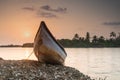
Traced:
[[107, 80], [119, 80], [120, 48], [78, 48], [66, 51], [68, 52], [66, 65], [94, 78], [107, 77]]

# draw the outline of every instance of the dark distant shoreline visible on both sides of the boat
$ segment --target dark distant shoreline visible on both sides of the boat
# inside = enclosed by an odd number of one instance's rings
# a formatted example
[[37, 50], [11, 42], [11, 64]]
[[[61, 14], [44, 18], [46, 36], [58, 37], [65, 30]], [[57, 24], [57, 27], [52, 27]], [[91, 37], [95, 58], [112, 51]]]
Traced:
[[[86, 37], [80, 37], [75, 34], [72, 39], [57, 39], [64, 48], [120, 48], [120, 33], [116, 36], [115, 32], [110, 33], [110, 38], [105, 39], [104, 36], [90, 36], [86, 33]], [[24, 43], [22, 45], [0, 45], [0, 47], [33, 47], [34, 43]]]

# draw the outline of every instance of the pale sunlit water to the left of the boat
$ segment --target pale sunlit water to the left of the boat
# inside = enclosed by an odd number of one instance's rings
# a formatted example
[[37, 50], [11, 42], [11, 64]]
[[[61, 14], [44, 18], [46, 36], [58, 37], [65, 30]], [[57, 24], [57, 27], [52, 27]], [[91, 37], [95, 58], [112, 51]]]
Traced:
[[[0, 48], [0, 57], [5, 60], [21, 60], [27, 59], [33, 48]], [[29, 59], [37, 60], [34, 53]]]

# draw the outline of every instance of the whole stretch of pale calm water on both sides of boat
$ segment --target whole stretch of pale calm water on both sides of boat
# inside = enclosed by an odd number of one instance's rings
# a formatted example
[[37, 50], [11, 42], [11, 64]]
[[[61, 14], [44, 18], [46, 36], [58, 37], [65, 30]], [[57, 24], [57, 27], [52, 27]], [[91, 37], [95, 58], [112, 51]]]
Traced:
[[[66, 66], [75, 67], [93, 78], [120, 79], [120, 48], [66, 48]], [[32, 48], [0, 48], [3, 59], [26, 59]], [[32, 54], [30, 59], [37, 60]]]

